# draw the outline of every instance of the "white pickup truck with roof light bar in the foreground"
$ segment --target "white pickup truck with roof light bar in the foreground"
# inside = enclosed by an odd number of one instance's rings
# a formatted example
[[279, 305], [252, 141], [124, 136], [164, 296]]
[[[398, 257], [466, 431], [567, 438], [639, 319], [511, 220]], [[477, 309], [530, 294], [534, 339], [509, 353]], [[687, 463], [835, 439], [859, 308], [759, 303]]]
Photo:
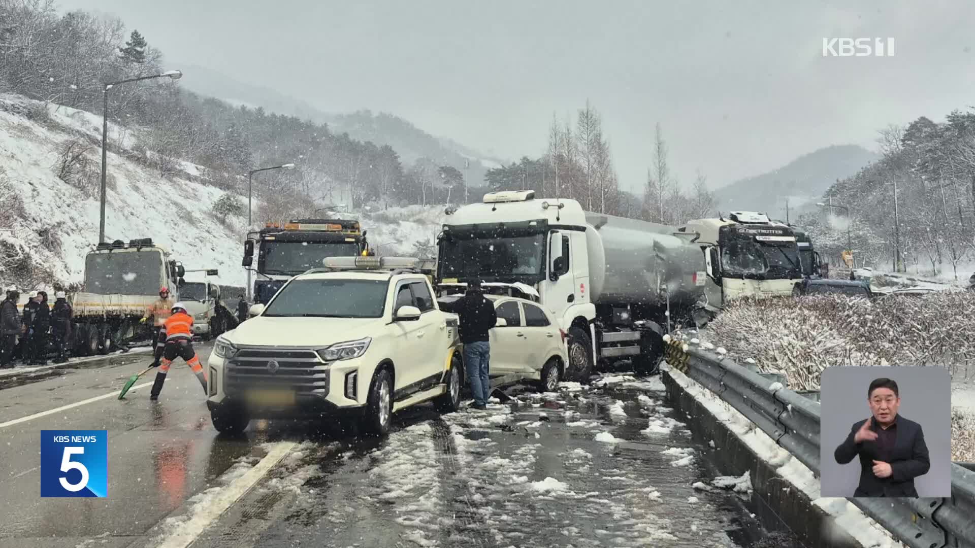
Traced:
[[453, 315], [404, 257], [331, 257], [292, 278], [251, 319], [217, 337], [207, 406], [220, 432], [253, 418], [352, 418], [385, 434], [391, 415], [460, 405]]

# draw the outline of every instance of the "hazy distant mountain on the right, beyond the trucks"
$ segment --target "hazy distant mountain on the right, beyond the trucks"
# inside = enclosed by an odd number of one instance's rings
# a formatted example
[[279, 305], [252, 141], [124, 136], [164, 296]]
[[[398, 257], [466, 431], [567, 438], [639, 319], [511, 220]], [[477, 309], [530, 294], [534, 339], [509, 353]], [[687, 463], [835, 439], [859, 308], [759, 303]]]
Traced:
[[788, 165], [761, 176], [743, 178], [715, 190], [722, 213], [753, 211], [776, 218], [808, 211], [838, 178], [855, 175], [878, 159], [878, 155], [855, 144], [820, 148]]

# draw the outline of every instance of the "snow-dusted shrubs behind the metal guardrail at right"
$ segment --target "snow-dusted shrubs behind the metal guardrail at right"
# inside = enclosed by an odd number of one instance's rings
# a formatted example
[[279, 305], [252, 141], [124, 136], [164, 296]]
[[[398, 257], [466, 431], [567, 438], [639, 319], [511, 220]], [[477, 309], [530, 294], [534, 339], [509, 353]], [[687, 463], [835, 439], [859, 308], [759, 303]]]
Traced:
[[941, 366], [964, 374], [975, 365], [975, 299], [966, 292], [737, 299], [702, 333], [741, 363], [781, 370], [796, 389], [818, 390], [837, 366]]

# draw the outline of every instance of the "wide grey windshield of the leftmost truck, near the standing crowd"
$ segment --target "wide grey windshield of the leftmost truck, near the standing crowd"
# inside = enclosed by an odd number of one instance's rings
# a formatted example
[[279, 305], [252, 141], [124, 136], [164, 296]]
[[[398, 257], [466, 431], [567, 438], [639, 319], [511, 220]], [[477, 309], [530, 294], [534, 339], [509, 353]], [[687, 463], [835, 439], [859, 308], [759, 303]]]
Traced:
[[88, 293], [155, 295], [163, 282], [159, 251], [99, 252], [85, 257]]

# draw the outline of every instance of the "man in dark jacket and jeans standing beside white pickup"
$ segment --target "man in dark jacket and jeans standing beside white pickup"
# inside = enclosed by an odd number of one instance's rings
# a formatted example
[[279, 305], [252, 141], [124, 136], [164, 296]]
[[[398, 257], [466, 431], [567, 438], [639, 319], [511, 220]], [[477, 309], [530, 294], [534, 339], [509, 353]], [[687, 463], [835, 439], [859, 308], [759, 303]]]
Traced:
[[488, 331], [497, 323], [494, 304], [481, 291], [481, 281], [473, 280], [467, 293], [441, 308], [460, 317], [460, 341], [464, 343], [464, 367], [474, 395], [474, 408], [487, 408], [490, 397], [490, 343]]

